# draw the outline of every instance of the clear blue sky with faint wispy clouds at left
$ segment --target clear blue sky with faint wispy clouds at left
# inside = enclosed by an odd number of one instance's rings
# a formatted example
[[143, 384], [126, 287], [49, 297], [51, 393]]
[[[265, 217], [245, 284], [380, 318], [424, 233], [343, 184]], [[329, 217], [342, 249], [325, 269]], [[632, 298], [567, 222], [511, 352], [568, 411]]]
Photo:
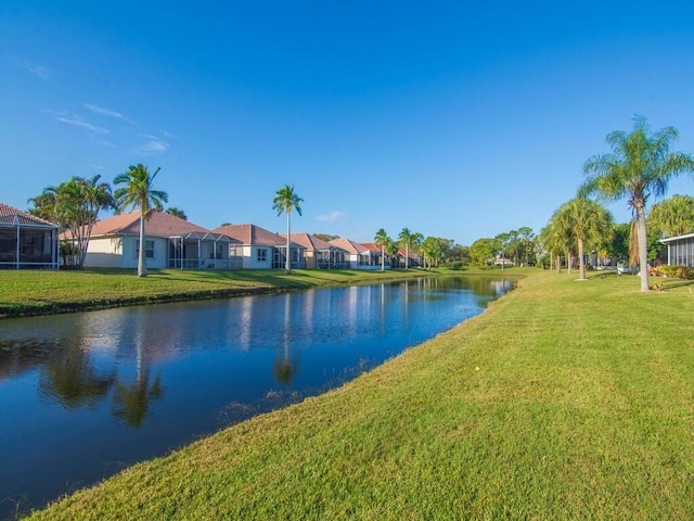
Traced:
[[[690, 2], [0, 0], [0, 201], [143, 163], [192, 223], [538, 232], [634, 114], [694, 153]], [[693, 192], [684, 177], [669, 194]], [[626, 201], [611, 205], [627, 221]]]

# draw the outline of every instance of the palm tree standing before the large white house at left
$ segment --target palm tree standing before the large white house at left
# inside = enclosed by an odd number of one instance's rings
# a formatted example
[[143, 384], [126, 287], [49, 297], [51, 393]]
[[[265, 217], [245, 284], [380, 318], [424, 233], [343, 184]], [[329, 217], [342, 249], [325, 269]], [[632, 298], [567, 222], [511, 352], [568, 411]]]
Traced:
[[140, 208], [140, 252], [138, 256], [138, 277], [147, 276], [147, 265], [145, 260], [144, 223], [150, 220], [152, 211], [162, 212], [163, 203], [169, 200], [166, 192], [154, 190], [153, 182], [162, 168], [157, 167], [154, 174], [150, 174], [147, 167], [138, 164], [130, 166], [128, 171], [119, 174], [113, 180], [114, 185], [125, 185], [115, 191], [114, 198], [117, 202], [118, 211], [128, 206]]

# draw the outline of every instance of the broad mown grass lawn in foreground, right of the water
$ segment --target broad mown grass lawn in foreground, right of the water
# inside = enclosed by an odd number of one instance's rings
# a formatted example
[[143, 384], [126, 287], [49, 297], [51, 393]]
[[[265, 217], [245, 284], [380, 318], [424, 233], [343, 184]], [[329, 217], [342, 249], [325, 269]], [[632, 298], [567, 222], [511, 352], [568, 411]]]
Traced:
[[692, 285], [527, 274], [336, 391], [31, 519], [689, 519]]

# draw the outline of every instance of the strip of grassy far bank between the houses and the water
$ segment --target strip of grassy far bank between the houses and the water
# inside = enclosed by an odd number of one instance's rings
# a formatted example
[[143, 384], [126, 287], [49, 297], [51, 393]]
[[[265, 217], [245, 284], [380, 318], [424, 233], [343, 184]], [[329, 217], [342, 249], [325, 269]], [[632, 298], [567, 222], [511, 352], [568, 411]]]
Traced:
[[46, 315], [105, 307], [198, 298], [239, 296], [327, 285], [372, 283], [384, 279], [421, 277], [422, 270], [151, 270], [138, 278], [133, 270], [0, 271], [0, 318]]

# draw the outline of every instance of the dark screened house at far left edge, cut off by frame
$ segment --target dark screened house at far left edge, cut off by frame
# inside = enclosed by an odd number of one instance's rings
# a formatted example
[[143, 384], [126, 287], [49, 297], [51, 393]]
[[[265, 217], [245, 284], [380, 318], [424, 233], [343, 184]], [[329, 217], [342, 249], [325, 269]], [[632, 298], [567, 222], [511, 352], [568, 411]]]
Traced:
[[57, 269], [59, 227], [0, 203], [0, 268]]

